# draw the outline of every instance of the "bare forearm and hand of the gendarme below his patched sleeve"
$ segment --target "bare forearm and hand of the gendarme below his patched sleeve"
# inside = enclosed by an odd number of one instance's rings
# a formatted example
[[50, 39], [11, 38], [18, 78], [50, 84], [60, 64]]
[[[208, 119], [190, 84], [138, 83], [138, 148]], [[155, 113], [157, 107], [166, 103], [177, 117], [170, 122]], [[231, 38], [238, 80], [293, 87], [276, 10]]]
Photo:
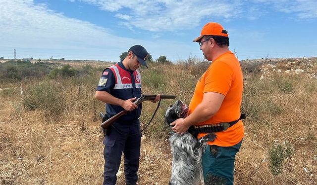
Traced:
[[95, 98], [107, 104], [120, 106], [126, 111], [133, 111], [138, 108], [138, 106], [133, 103], [136, 97], [130, 98], [128, 100], [121, 100], [121, 99], [115, 98], [114, 96], [112, 96], [106, 91], [96, 91]]

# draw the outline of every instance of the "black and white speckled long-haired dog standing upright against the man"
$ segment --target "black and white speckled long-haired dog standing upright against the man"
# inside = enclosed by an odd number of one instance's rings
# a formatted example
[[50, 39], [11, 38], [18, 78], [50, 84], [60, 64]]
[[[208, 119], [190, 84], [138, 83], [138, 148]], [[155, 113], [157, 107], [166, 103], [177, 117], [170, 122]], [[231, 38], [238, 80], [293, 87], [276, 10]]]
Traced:
[[[178, 100], [174, 105], [169, 106], [165, 113], [167, 126], [178, 118], [187, 116], [188, 106]], [[171, 132], [169, 138], [172, 150], [172, 172], [169, 185], [200, 185], [202, 153], [208, 141], [215, 139], [215, 134], [209, 133], [197, 140], [198, 133], [191, 126], [184, 135]]]

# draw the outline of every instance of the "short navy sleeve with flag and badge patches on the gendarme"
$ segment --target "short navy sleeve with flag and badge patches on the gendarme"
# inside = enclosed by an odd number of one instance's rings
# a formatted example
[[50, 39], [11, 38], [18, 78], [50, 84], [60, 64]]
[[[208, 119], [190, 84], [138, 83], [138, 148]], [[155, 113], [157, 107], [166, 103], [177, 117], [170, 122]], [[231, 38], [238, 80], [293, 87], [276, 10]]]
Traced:
[[105, 69], [103, 74], [101, 75], [96, 91], [106, 91], [111, 93], [111, 89], [113, 89], [115, 85], [115, 78], [110, 69]]

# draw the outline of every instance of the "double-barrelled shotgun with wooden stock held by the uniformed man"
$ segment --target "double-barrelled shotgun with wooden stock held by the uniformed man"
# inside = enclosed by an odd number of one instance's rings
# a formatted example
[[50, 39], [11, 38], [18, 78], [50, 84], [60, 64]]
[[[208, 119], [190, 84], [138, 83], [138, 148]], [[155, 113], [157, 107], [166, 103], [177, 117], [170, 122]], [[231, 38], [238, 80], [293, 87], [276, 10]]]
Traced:
[[[136, 105], [139, 105], [139, 104], [141, 104], [144, 101], [154, 100], [156, 96], [157, 95], [144, 94], [140, 98], [137, 98], [133, 103], [136, 104]], [[160, 95], [160, 99], [175, 99], [175, 98], [176, 98], [176, 95]], [[126, 110], [120, 111], [119, 113], [115, 114], [114, 116], [112, 116], [109, 119], [107, 119], [106, 121], [104, 121], [101, 124], [101, 127], [103, 127], [104, 129], [108, 128], [109, 126], [112, 125], [112, 123], [116, 119], [118, 119], [122, 115], [126, 114], [127, 112], [128, 111], [126, 111]]]

